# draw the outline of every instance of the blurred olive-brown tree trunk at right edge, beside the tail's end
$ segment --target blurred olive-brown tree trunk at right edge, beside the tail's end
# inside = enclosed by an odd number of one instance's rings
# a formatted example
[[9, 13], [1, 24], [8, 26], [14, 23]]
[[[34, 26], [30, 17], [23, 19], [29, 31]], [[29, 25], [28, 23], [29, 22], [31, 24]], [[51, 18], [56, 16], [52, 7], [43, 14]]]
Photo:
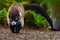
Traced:
[[[59, 5], [51, 5], [51, 16], [52, 19], [56, 18], [56, 22], [58, 24], [58, 28], [60, 28], [60, 6]], [[53, 20], [54, 21], [54, 20]], [[55, 22], [55, 24], [56, 24]]]

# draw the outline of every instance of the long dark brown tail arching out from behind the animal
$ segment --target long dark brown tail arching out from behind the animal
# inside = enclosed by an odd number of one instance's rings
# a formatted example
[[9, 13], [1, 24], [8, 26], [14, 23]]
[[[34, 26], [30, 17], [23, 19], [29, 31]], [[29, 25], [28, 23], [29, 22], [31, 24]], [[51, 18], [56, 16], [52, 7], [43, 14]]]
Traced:
[[36, 10], [36, 12], [40, 13], [42, 16], [44, 16], [46, 18], [46, 20], [49, 22], [51, 28], [53, 28], [53, 23], [52, 23], [52, 20], [51, 18], [46, 14], [46, 12], [38, 5], [38, 4], [26, 4], [26, 5], [23, 5], [25, 10], [29, 10], [29, 9], [32, 9], [32, 10]]

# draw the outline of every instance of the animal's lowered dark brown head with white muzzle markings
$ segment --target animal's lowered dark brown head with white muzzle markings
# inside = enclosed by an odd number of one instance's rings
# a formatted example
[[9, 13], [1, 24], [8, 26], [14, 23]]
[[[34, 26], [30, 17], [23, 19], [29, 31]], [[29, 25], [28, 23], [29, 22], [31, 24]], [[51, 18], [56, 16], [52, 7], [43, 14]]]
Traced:
[[20, 15], [17, 9], [13, 9], [9, 12], [10, 25], [16, 25], [19, 19]]

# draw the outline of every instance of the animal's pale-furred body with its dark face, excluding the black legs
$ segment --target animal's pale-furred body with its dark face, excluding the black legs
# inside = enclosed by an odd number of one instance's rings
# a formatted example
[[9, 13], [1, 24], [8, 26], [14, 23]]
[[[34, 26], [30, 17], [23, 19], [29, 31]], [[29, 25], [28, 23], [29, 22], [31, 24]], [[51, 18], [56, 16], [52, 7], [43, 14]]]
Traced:
[[8, 9], [7, 21], [8, 25], [20, 25], [24, 26], [24, 7], [19, 3], [13, 3]]

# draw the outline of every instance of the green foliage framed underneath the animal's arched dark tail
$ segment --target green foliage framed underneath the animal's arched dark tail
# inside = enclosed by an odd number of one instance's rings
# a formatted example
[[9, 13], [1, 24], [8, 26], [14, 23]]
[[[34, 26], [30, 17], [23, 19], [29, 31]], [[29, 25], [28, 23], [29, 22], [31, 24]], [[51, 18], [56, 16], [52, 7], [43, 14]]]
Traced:
[[36, 13], [35, 11], [31, 11], [31, 10], [26, 11], [25, 18], [26, 18], [26, 22], [31, 23], [32, 25], [34, 23], [38, 27], [41, 25], [48, 24], [46, 19], [40, 14]]

